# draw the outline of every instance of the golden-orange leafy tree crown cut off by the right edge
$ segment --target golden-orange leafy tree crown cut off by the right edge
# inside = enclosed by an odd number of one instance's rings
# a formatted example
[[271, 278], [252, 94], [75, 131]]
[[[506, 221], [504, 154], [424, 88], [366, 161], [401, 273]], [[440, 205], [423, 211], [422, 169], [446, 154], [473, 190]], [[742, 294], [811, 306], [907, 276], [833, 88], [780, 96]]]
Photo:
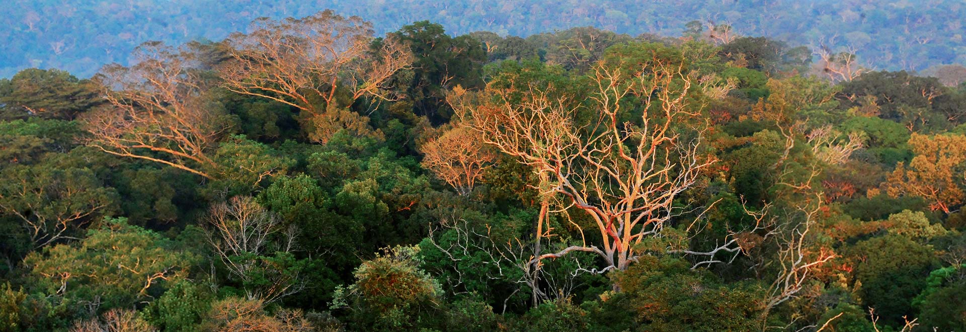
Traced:
[[962, 174], [966, 169], [966, 136], [926, 136], [913, 133], [909, 147], [916, 156], [909, 165], [899, 162], [889, 179], [882, 183], [892, 197], [919, 196], [929, 201], [929, 208], [947, 214], [962, 203]]

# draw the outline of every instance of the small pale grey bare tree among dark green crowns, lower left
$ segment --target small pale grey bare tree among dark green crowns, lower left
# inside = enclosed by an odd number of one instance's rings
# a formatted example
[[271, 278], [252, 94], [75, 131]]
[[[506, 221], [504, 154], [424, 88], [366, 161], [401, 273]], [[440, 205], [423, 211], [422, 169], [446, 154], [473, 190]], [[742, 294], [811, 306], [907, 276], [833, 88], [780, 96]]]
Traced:
[[217, 203], [208, 213], [206, 229], [209, 244], [233, 277], [251, 282], [257, 274], [269, 279], [267, 286], [245, 290], [249, 300], [267, 303], [301, 291], [298, 273], [278, 270], [263, 258], [274, 252], [291, 253], [295, 248], [294, 228], [283, 228], [281, 221], [255, 199], [237, 196]]

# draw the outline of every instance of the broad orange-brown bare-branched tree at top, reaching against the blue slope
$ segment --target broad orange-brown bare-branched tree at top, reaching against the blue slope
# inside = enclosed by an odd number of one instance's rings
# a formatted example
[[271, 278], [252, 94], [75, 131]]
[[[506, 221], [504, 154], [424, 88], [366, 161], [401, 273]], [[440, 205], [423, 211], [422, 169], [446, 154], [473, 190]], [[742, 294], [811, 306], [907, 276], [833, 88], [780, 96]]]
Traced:
[[373, 50], [372, 25], [357, 16], [325, 11], [281, 21], [263, 17], [249, 31], [227, 40], [233, 61], [220, 69], [224, 87], [288, 104], [312, 117], [336, 106], [340, 86], [353, 100], [393, 99], [384, 84], [412, 66], [409, 47], [395, 38], [386, 37]]

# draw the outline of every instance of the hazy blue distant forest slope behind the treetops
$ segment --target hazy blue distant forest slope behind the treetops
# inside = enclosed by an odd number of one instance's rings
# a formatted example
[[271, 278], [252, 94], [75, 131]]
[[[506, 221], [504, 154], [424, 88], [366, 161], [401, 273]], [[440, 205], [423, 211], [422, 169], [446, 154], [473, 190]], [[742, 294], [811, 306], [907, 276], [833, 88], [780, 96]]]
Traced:
[[219, 41], [259, 16], [327, 8], [372, 21], [378, 33], [428, 19], [456, 35], [528, 36], [592, 25], [676, 37], [698, 20], [792, 45], [851, 49], [873, 69], [966, 64], [966, 3], [959, 0], [8, 1], [0, 5], [0, 77], [31, 67], [89, 76], [104, 64], [126, 64], [144, 41]]

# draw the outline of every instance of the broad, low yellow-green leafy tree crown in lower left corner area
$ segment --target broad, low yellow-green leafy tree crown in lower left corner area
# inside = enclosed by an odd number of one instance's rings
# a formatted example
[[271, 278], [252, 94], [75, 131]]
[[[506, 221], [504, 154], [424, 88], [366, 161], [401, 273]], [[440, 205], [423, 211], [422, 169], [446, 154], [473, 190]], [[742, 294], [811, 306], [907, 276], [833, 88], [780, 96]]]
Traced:
[[150, 301], [166, 283], [187, 275], [194, 257], [155, 232], [107, 219], [74, 244], [59, 244], [25, 260], [43, 291], [73, 310], [111, 309]]

